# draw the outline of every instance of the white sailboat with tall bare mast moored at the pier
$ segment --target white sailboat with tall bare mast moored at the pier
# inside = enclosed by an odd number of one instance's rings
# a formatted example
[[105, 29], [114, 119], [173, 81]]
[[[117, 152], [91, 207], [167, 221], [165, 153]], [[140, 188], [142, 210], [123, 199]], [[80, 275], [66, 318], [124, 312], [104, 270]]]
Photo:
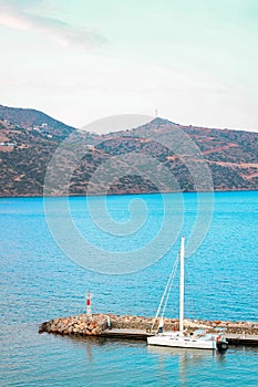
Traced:
[[[185, 238], [180, 242], [180, 283], [179, 283], [179, 331], [163, 332], [163, 316], [159, 322], [158, 332], [147, 337], [148, 345], [158, 345], [179, 348], [197, 348], [197, 349], [227, 349], [227, 341], [221, 334], [206, 333], [205, 330], [196, 330], [193, 334], [186, 334], [184, 330], [184, 287], [185, 287]], [[175, 269], [174, 269], [175, 270]], [[168, 280], [168, 283], [171, 278]], [[165, 292], [169, 286], [166, 286]], [[162, 297], [164, 301], [165, 292]], [[161, 310], [161, 305], [158, 312]], [[157, 314], [158, 314], [157, 312]]]

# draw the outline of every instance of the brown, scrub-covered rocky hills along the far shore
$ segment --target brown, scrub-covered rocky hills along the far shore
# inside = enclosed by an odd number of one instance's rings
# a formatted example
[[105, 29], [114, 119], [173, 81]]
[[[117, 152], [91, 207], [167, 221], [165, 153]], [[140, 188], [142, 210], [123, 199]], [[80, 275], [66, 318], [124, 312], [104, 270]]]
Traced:
[[41, 112], [0, 106], [0, 196], [41, 196], [47, 168], [64, 138], [62, 154], [49, 167], [48, 195], [206, 190], [202, 179], [207, 167], [215, 190], [258, 189], [258, 133], [156, 118], [132, 130], [97, 136]]

